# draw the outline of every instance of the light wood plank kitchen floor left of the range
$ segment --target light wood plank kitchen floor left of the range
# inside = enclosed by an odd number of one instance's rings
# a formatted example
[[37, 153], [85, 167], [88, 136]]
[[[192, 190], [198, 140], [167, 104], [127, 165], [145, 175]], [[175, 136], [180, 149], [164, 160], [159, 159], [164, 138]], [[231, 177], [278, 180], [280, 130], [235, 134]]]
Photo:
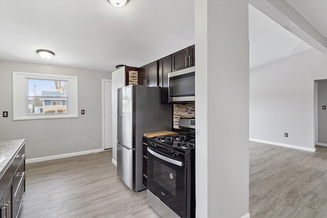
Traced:
[[117, 176], [112, 155], [81, 155], [26, 166], [19, 217], [159, 217], [146, 191], [131, 191]]

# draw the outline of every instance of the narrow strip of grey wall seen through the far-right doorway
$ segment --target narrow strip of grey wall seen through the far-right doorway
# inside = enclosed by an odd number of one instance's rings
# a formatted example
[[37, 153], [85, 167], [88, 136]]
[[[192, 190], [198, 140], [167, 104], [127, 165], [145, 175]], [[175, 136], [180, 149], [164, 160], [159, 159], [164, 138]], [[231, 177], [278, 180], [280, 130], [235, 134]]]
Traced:
[[[326, 72], [327, 73], [327, 72]], [[318, 80], [318, 143], [327, 146], [327, 80]]]

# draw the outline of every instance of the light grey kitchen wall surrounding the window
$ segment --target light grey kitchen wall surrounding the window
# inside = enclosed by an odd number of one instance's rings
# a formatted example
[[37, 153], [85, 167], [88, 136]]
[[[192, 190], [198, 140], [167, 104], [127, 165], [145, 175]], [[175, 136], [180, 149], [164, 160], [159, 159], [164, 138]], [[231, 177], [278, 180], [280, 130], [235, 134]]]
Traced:
[[[79, 117], [13, 121], [12, 71], [77, 76]], [[9, 117], [0, 117], [0, 140], [25, 138], [27, 159], [102, 149], [102, 79], [111, 73], [1, 60], [0, 111]]]

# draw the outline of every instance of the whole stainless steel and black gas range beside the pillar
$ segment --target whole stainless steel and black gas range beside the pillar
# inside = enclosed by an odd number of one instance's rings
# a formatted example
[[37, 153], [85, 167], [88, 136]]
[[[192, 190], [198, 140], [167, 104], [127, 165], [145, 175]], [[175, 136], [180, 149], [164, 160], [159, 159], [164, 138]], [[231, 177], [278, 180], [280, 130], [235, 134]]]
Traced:
[[161, 217], [195, 217], [195, 119], [148, 139], [148, 204]]

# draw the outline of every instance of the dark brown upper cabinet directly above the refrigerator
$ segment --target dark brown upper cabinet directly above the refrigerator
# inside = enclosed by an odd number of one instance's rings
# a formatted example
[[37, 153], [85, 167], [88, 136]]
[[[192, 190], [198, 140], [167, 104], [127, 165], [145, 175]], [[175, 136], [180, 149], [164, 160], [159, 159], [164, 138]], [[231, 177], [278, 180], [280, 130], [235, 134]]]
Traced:
[[138, 70], [138, 84], [158, 86], [158, 61], [153, 61]]

